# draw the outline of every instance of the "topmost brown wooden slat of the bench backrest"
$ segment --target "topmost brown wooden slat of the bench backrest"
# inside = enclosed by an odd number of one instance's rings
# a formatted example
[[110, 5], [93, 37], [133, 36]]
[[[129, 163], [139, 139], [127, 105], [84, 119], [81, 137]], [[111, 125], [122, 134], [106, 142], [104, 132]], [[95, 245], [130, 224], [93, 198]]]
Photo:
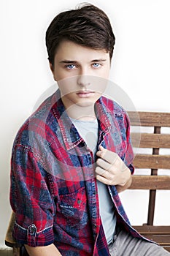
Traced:
[[[139, 118], [138, 118], [139, 114]], [[131, 125], [143, 127], [170, 127], [170, 113], [129, 111]]]

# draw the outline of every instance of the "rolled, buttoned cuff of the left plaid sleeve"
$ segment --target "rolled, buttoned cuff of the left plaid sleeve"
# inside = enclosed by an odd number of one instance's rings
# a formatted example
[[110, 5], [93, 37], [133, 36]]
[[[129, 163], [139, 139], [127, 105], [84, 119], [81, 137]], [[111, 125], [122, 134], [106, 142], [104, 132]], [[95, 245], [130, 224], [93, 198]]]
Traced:
[[24, 228], [15, 222], [13, 236], [19, 244], [28, 244], [32, 247], [47, 246], [54, 241], [53, 226], [37, 232], [34, 223]]

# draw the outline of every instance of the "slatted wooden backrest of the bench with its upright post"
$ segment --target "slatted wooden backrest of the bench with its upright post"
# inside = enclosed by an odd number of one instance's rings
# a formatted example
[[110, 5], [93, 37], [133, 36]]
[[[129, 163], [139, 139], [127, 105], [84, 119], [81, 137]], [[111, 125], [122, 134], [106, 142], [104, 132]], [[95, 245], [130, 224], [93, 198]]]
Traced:
[[[162, 132], [164, 127], [170, 127], [170, 113], [128, 112], [128, 116], [132, 128], [152, 127], [152, 132], [131, 133], [134, 148], [142, 148], [134, 158], [134, 167], [150, 169], [150, 175], [134, 175], [129, 189], [150, 190], [147, 225], [153, 225], [156, 190], [170, 189], [169, 173], [158, 175], [158, 170], [170, 170], [170, 128]], [[149, 148], [152, 152], [148, 154]], [[161, 148], [166, 148], [166, 153], [160, 152]]]

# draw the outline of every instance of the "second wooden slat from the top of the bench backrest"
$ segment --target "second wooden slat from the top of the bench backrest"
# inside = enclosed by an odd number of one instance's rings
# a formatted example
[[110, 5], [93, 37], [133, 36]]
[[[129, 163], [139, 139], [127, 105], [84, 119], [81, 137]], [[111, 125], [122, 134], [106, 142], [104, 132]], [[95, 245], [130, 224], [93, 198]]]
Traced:
[[[140, 138], [140, 143], [139, 143]], [[131, 133], [134, 147], [139, 148], [170, 148], [169, 134]]]

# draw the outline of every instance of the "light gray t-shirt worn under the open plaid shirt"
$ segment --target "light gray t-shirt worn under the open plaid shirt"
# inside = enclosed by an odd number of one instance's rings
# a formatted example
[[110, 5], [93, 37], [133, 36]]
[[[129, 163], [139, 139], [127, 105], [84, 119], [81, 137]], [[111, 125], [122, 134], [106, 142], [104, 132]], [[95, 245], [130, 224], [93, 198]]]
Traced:
[[[97, 142], [98, 142], [98, 121], [81, 121], [71, 118], [77, 131], [85, 140], [88, 148], [96, 155]], [[98, 198], [99, 198], [99, 211], [101, 215], [101, 222], [104, 227], [104, 233], [107, 238], [107, 243], [112, 241], [115, 234], [116, 216], [112, 199], [109, 196], [107, 186], [100, 181], [97, 181]]]

